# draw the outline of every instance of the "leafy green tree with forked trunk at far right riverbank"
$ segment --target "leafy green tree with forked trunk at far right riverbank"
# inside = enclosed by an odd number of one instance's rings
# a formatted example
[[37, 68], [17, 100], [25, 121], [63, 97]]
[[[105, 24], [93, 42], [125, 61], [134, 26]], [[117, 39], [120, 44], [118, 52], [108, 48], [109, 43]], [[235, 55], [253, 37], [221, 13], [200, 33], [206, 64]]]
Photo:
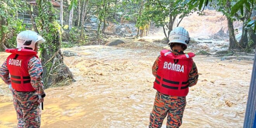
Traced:
[[[256, 20], [251, 21], [252, 10], [255, 9], [255, 0], [211, 0], [211, 3], [217, 3], [217, 8], [220, 12], [223, 12], [228, 19], [228, 30], [229, 30], [229, 49], [244, 49], [249, 46], [247, 29], [253, 29], [256, 31]], [[199, 10], [209, 4], [209, 0], [190, 0], [189, 5], [192, 8], [199, 7]], [[211, 4], [210, 4], [211, 5]], [[242, 37], [239, 43], [235, 39], [233, 21], [240, 20], [243, 22]]]

